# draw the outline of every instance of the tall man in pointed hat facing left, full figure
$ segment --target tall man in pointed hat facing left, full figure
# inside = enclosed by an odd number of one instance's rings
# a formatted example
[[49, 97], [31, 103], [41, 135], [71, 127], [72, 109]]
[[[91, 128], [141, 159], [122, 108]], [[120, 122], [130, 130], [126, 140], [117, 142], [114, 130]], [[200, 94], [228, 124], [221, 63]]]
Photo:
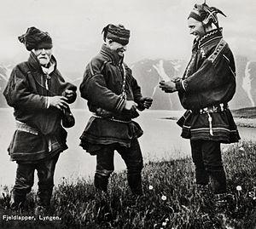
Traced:
[[218, 13], [224, 15], [206, 3], [195, 4], [188, 18], [189, 33], [195, 36], [189, 65], [183, 77], [160, 82], [160, 88], [177, 91], [187, 110], [177, 123], [182, 137], [190, 139], [198, 189], [206, 190], [211, 178], [216, 200], [222, 202], [227, 189], [220, 144], [237, 142], [240, 136], [228, 106], [236, 91], [235, 61]]

